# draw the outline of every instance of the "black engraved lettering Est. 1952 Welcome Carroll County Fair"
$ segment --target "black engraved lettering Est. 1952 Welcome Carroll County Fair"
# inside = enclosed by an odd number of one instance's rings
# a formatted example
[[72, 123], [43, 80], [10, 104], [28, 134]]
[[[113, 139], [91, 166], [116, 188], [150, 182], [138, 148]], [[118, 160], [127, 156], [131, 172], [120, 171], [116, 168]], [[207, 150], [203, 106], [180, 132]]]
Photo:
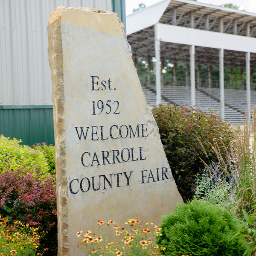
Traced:
[[[99, 79], [99, 76], [91, 76], [91, 90], [105, 91], [116, 90], [111, 84], [111, 79]], [[92, 102], [92, 116], [96, 115], [119, 115], [119, 101], [118, 100], [93, 100]], [[76, 140], [94, 141], [95, 143], [102, 140], [141, 140], [149, 136], [148, 124], [140, 123], [137, 125], [131, 124], [114, 124], [111, 126], [75, 126]], [[145, 161], [147, 159], [146, 149], [141, 145], [137, 147], [112, 148], [111, 150], [101, 151], [84, 151], [81, 154], [81, 168], [105, 166], [113, 164], [122, 164], [128, 162]], [[158, 182], [162, 180], [169, 180], [167, 176], [168, 169], [166, 167], [157, 167], [146, 170], [137, 170], [140, 172], [140, 184]], [[70, 193], [75, 195], [77, 193], [87, 193], [90, 190], [100, 191], [108, 188], [130, 186], [131, 176], [133, 171], [118, 172], [108, 175], [98, 175], [91, 177], [73, 178], [69, 183]]]

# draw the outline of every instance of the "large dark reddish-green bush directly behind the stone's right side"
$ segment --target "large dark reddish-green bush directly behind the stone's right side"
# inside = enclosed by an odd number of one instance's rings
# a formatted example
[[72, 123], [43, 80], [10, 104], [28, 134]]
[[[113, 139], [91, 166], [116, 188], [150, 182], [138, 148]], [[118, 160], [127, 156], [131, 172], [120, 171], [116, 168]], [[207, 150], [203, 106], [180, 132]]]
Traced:
[[234, 137], [231, 126], [216, 113], [195, 108], [158, 105], [152, 113], [180, 195], [184, 201], [191, 199], [195, 191], [195, 175], [205, 168], [202, 160], [206, 163], [218, 161], [209, 143], [218, 145], [221, 154], [225, 154], [225, 147], [229, 148]]

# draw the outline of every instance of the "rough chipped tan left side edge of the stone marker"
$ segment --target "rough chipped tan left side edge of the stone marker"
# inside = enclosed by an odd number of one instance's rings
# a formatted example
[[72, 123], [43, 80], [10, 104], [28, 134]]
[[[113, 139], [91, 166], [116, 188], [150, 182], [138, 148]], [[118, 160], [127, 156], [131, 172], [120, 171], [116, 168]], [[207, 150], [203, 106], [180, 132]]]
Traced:
[[68, 207], [67, 170], [64, 126], [64, 80], [61, 38], [61, 13], [63, 9], [52, 11], [48, 30], [48, 60], [52, 73], [52, 102], [55, 138], [56, 192], [58, 212], [58, 255], [68, 256]]

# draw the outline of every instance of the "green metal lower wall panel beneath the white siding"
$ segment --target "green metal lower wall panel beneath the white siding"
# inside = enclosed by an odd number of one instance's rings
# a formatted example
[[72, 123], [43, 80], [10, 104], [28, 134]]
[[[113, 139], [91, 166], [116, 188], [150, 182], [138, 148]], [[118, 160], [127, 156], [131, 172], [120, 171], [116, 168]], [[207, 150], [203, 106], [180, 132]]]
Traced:
[[52, 106], [0, 106], [0, 134], [22, 144], [54, 144]]

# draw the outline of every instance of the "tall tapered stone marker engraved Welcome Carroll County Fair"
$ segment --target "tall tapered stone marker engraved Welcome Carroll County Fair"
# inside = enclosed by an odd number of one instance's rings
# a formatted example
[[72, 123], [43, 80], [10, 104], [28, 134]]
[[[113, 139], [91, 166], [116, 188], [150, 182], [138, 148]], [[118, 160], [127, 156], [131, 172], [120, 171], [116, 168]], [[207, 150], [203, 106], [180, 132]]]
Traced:
[[48, 35], [58, 255], [77, 256], [76, 232], [98, 219], [159, 224], [182, 198], [118, 16], [59, 7]]

